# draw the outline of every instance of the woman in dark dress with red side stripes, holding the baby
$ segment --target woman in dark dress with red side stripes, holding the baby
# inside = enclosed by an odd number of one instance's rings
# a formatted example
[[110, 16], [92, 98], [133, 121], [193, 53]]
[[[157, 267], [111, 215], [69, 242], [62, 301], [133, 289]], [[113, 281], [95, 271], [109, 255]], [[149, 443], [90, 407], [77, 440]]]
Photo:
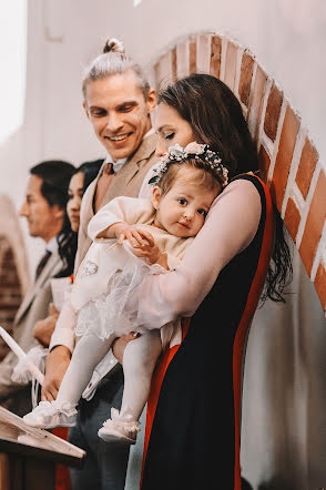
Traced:
[[[184, 321], [181, 345], [165, 350], [152, 380], [141, 488], [238, 490], [246, 337], [259, 298], [283, 300], [289, 251], [241, 105], [223, 82], [176, 81], [159, 94], [155, 130], [159, 156], [175, 143], [208, 144], [230, 184], [181, 264], [144, 280], [139, 320], [146, 328]], [[118, 340], [118, 358], [119, 349]]]

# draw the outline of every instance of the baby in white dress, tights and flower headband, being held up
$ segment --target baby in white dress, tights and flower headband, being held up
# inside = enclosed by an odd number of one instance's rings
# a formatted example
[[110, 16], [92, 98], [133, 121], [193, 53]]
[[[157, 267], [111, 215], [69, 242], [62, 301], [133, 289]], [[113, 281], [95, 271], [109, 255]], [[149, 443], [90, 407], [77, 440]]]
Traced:
[[146, 274], [177, 266], [227, 184], [227, 169], [218, 154], [197, 143], [170, 147], [154, 173], [152, 200], [116, 197], [89, 224], [93, 243], [59, 317], [77, 325], [77, 346], [57, 400], [41, 401], [23, 417], [32, 427], [73, 426], [94, 368], [116, 337], [134, 331], [140, 336], [128, 344], [123, 356], [121, 410], [112, 408], [99, 436], [105, 441], [136, 440], [157, 358], [169, 343], [181, 341], [180, 320], [153, 330], [139, 324], [137, 305], [146, 300], [140, 295], [142, 280]]

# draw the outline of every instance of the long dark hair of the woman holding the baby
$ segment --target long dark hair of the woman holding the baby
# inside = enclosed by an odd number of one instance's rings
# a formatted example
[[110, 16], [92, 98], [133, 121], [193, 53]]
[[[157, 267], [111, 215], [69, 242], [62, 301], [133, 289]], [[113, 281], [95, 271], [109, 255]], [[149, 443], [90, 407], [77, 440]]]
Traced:
[[[159, 104], [173, 108], [192, 126], [198, 143], [220, 153], [230, 177], [258, 170], [256, 145], [241, 104], [225, 83], [194, 73], [159, 92]], [[292, 261], [283, 221], [275, 210], [275, 245], [262, 300], [285, 302], [282, 293], [292, 278]]]

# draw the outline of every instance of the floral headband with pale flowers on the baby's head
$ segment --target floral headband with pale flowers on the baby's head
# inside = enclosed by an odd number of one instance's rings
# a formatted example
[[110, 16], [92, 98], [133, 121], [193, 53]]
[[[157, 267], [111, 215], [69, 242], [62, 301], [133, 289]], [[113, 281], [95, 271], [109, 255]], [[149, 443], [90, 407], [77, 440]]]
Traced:
[[228, 183], [228, 170], [222, 164], [218, 153], [212, 152], [207, 144], [198, 144], [195, 141], [185, 147], [180, 144], [170, 146], [167, 153], [162, 156], [160, 165], [153, 170], [155, 175], [149, 181], [149, 184], [156, 185], [167, 172], [170, 165], [176, 162], [183, 162], [189, 159], [202, 160], [220, 177], [222, 186]]

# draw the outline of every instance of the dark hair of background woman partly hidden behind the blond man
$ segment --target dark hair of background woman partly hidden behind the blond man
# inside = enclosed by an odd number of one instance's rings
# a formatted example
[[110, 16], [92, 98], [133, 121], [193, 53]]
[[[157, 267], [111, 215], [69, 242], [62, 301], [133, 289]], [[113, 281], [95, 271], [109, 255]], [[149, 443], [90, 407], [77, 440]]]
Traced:
[[[79, 172], [83, 173], [83, 192], [85, 192], [90, 183], [98, 175], [103, 160], [84, 162], [73, 172], [73, 175]], [[67, 201], [68, 198], [69, 197], [67, 197]], [[63, 263], [63, 267], [57, 274], [55, 277], [67, 277], [73, 273], [74, 258], [78, 246], [78, 232], [73, 232], [71, 229], [67, 212], [64, 213], [62, 228], [59, 235], [57, 236], [57, 241], [58, 241], [58, 252]]]

